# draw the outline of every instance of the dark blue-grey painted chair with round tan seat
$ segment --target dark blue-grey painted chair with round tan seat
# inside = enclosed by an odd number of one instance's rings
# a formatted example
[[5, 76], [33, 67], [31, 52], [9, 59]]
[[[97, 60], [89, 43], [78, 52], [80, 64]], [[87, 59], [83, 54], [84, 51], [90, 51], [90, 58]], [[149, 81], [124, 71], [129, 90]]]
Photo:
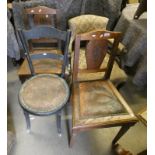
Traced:
[[[24, 111], [27, 129], [30, 131], [29, 114], [46, 116], [56, 113], [58, 133], [61, 134], [61, 109], [69, 98], [69, 88], [64, 77], [70, 32], [60, 31], [48, 26], [38, 26], [30, 30], [21, 30], [19, 31], [19, 35], [25, 50], [29, 72], [32, 75], [30, 79], [24, 82], [19, 91], [19, 103]], [[46, 51], [44, 53], [30, 54], [27, 47], [28, 40], [45, 36], [63, 40], [64, 55], [57, 52], [46, 53]], [[59, 70], [60, 76], [54, 74], [37, 75], [37, 73], [42, 72], [37, 72], [33, 62], [40, 59], [60, 61], [62, 63], [61, 67], [59, 66], [61, 69]], [[57, 69], [57, 63], [54, 62], [53, 65]]]

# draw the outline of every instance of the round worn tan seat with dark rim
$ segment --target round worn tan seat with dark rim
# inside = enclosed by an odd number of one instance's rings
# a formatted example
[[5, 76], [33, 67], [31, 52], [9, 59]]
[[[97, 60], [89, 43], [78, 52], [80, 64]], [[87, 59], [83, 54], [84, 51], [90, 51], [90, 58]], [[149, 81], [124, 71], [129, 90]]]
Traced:
[[60, 110], [69, 98], [66, 81], [57, 75], [41, 74], [27, 80], [19, 92], [21, 106], [33, 114]]

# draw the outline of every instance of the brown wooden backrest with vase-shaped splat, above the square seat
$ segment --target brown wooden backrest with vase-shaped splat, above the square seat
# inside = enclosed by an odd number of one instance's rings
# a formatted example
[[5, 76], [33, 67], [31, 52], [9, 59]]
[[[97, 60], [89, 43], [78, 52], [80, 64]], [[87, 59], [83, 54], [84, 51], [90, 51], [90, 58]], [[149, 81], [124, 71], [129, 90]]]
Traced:
[[[120, 32], [111, 32], [106, 30], [96, 30], [84, 34], [79, 34], [75, 39], [75, 53], [73, 64], [73, 82], [78, 81], [78, 73], [95, 73], [105, 72], [104, 78], [110, 78], [113, 67], [116, 50], [120, 41]], [[110, 49], [110, 57], [105, 68], [101, 68], [101, 64], [109, 51], [109, 39], [114, 39], [114, 43]], [[81, 42], [87, 41], [85, 48], [86, 69], [79, 69], [79, 57]]]

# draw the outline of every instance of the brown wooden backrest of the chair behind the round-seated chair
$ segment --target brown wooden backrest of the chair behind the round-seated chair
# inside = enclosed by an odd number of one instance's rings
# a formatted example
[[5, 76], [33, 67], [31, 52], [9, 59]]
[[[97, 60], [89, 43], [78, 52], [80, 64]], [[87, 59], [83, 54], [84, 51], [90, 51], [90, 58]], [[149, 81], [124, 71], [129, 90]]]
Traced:
[[[57, 25], [57, 9], [49, 8], [46, 6], [37, 6], [32, 8], [25, 8], [25, 25], [28, 28], [33, 28], [37, 25], [49, 25], [58, 28]], [[53, 39], [33, 39], [30, 42], [31, 49], [45, 48], [45, 47], [59, 47], [60, 42]], [[52, 45], [52, 46], [51, 46]]]

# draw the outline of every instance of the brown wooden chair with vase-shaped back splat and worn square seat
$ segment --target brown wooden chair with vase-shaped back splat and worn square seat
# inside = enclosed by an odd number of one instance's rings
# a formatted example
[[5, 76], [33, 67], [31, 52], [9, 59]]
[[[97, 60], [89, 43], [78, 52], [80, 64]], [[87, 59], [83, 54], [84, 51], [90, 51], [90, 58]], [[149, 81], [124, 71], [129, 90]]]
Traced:
[[[106, 30], [96, 30], [76, 36], [71, 91], [73, 109], [70, 146], [75, 135], [80, 131], [122, 126], [112, 142], [115, 144], [129, 127], [137, 122], [129, 105], [109, 80], [120, 37], [121, 33]], [[109, 39], [114, 39], [114, 43], [105, 65], [103, 60], [109, 49]], [[86, 43], [85, 68], [80, 68], [79, 64], [82, 42]], [[100, 79], [96, 77], [97, 72], [104, 73]], [[94, 76], [88, 80], [87, 74]]]

